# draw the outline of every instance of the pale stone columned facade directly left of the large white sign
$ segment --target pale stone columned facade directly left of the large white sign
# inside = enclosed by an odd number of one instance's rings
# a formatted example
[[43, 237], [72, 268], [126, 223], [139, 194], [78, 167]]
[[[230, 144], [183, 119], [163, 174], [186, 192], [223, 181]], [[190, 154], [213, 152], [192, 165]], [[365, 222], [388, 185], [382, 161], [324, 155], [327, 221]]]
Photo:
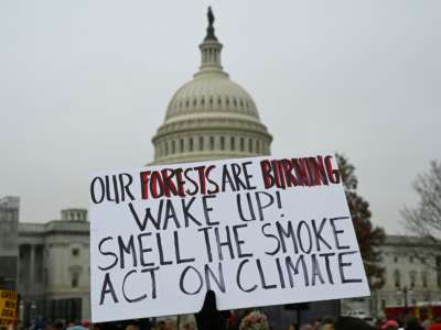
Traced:
[[47, 223], [20, 223], [18, 242], [23, 320], [89, 320], [87, 210], [63, 210], [61, 220]]

